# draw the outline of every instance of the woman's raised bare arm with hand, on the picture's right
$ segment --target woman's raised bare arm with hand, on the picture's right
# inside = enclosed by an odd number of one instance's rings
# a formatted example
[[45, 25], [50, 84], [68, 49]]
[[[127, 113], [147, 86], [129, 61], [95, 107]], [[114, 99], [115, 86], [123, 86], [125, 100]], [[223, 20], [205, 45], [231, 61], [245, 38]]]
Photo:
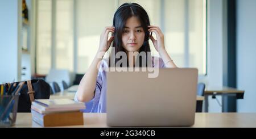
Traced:
[[160, 28], [158, 26], [148, 26], [148, 27], [149, 27], [148, 31], [154, 32], [156, 34], [157, 40], [155, 40], [153, 36], [151, 36], [150, 39], [152, 40], [156, 51], [158, 51], [158, 53], [162, 57], [164, 66], [166, 68], [177, 68], [177, 66], [174, 64], [174, 61], [172, 61], [171, 57], [167, 53], [166, 48], [164, 47], [164, 35], [160, 30]]

